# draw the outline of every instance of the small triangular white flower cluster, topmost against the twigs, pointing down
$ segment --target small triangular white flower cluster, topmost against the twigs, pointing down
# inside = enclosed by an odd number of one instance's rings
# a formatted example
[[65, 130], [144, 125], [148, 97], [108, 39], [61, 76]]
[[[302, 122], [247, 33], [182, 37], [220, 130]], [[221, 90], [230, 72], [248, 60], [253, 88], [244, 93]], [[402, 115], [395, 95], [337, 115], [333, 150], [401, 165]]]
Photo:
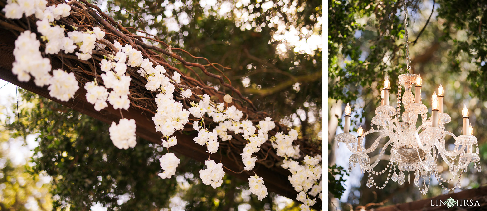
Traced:
[[88, 60], [92, 58], [93, 49], [96, 47], [96, 40], [105, 37], [105, 32], [101, 31], [99, 27], [93, 27], [93, 31], [86, 32], [73, 31], [68, 32], [69, 38], [79, 46], [81, 52], [76, 52], [76, 56], [81, 60]]

